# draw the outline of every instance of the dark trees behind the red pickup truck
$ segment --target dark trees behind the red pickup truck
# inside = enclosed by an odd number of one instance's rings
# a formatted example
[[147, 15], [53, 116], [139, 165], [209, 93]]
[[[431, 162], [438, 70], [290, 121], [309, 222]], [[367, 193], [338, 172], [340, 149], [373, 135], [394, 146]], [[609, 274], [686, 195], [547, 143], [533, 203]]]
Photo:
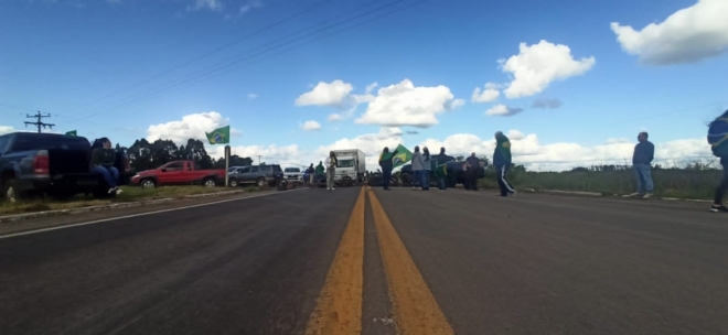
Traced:
[[[117, 149], [126, 150], [133, 171], [157, 169], [171, 161], [194, 161], [200, 169], [225, 169], [225, 158], [214, 159], [207, 154], [205, 144], [201, 140], [189, 139], [186, 144], [178, 147], [171, 140], [139, 139], [129, 148], [116, 145]], [[253, 165], [253, 159], [231, 155], [231, 166]]]

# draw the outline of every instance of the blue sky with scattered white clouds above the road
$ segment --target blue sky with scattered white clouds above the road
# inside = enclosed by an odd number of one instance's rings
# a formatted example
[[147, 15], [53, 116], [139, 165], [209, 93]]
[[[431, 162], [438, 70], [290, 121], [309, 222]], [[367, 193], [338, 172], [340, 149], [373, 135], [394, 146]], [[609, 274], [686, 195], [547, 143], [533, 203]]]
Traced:
[[[385, 145], [536, 171], [710, 159], [728, 109], [726, 0], [4, 0], [0, 133], [205, 139], [318, 163]], [[207, 145], [214, 156], [222, 145]]]

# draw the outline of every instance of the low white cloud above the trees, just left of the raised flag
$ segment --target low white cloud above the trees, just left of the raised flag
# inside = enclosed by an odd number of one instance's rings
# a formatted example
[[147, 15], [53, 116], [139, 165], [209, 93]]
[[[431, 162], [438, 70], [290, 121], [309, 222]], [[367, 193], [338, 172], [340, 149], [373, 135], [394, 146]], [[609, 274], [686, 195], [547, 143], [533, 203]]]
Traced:
[[[183, 144], [189, 139], [205, 140], [207, 139], [205, 132], [227, 125], [229, 120], [216, 111], [191, 114], [182, 117], [182, 120], [149, 126], [147, 140], [172, 140], [174, 143]], [[231, 128], [231, 136], [239, 133], [237, 129]]]

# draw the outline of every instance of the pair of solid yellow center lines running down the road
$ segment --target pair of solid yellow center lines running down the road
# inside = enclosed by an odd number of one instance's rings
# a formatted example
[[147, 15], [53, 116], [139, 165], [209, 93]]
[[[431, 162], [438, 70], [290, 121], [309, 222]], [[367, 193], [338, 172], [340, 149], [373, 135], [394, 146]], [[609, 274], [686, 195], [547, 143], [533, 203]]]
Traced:
[[398, 334], [454, 334], [379, 199], [362, 187], [349, 218], [307, 335], [362, 332], [364, 213], [368, 194]]

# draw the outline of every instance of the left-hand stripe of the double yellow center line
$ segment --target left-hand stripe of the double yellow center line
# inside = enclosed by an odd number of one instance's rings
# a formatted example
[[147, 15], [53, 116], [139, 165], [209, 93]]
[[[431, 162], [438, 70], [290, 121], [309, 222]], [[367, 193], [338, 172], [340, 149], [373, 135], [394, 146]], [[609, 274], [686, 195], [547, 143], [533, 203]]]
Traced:
[[309, 318], [307, 335], [354, 335], [362, 332], [365, 193], [362, 187], [315, 310]]

